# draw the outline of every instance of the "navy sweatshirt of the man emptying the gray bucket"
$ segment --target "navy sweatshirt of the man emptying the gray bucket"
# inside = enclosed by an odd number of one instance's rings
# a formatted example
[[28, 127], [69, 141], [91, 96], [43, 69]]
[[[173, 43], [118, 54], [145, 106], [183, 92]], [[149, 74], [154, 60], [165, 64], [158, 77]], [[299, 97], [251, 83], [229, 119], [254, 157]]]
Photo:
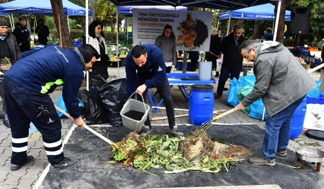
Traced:
[[139, 67], [135, 64], [132, 51], [130, 51], [126, 57], [126, 90], [128, 97], [136, 91], [137, 76], [147, 78], [144, 83], [147, 88], [157, 87], [163, 84], [167, 79], [166, 65], [164, 63], [162, 51], [152, 44], [143, 44], [141, 46], [144, 47], [147, 52], [147, 61], [144, 66]]

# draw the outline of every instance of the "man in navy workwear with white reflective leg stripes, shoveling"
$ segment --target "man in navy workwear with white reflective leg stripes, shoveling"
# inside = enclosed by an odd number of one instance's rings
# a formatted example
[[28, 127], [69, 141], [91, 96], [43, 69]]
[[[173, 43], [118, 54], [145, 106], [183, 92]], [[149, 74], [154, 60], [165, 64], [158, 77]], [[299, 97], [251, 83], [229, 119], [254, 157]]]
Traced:
[[12, 133], [11, 170], [18, 170], [33, 161], [27, 156], [29, 123], [41, 132], [50, 170], [75, 166], [77, 159], [64, 157], [61, 120], [49, 96], [63, 85], [63, 100], [74, 123], [82, 127], [77, 91], [84, 80], [84, 70], [90, 69], [100, 55], [91, 45], [67, 50], [55, 44], [21, 54], [5, 73], [3, 87]]

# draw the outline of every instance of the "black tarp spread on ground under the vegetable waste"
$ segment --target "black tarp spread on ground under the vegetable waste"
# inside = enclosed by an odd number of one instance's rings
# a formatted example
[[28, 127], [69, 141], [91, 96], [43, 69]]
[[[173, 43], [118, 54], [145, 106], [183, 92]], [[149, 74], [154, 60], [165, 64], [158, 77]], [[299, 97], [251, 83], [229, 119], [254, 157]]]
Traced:
[[[153, 126], [153, 134], [163, 134], [168, 126]], [[179, 130], [185, 134], [196, 129], [194, 126], [182, 125]], [[108, 139], [118, 142], [130, 132], [127, 128], [94, 127]], [[261, 151], [264, 130], [257, 125], [213, 125], [208, 134], [213, 140], [247, 146], [252, 154]], [[179, 174], [165, 174], [165, 169], [149, 169], [152, 176], [133, 167], [123, 168], [110, 164], [112, 152], [108, 144], [94, 136], [86, 129], [76, 128], [68, 143], [64, 146], [64, 154], [77, 158], [76, 167], [49, 172], [40, 188], [152, 188], [152, 187], [188, 187], [219, 185], [261, 185], [278, 184], [282, 188], [323, 188], [324, 175], [306, 166], [304, 170], [287, 166], [256, 166], [241, 162], [232, 166], [229, 172], [205, 173], [191, 171]], [[277, 162], [297, 165], [293, 151], [288, 156], [278, 157]]]

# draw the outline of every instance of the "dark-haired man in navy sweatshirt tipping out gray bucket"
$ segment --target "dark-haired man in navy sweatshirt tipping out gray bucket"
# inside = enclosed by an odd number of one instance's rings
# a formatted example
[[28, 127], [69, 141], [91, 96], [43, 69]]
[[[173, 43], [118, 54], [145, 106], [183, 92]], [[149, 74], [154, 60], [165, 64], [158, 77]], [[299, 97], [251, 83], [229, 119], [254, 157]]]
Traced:
[[[143, 95], [146, 100], [147, 89], [156, 87], [166, 104], [171, 133], [175, 137], [184, 136], [176, 125], [171, 89], [166, 75], [166, 65], [162, 51], [152, 44], [136, 45], [127, 54], [125, 68], [127, 96], [130, 97], [136, 92], [137, 99], [143, 101], [140, 95]], [[149, 116], [147, 116], [144, 124], [142, 135], [145, 136], [153, 131]]]

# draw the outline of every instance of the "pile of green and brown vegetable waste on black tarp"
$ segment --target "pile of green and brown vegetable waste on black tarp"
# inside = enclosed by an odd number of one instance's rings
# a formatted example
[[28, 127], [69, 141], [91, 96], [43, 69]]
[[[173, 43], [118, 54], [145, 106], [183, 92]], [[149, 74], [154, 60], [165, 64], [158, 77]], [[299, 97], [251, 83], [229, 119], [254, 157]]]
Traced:
[[167, 169], [165, 173], [228, 171], [230, 165], [244, 160], [239, 157], [250, 154], [247, 148], [211, 141], [204, 130], [177, 138], [131, 133], [117, 146], [112, 149], [112, 157], [119, 165], [134, 166], [148, 174], [147, 169], [161, 167]]

